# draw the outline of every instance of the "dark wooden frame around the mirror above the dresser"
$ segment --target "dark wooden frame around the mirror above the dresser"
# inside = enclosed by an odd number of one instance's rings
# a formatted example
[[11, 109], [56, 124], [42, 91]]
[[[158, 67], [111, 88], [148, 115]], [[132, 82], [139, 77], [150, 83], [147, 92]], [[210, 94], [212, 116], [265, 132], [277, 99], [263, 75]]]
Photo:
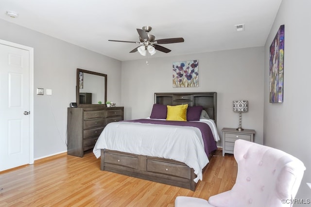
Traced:
[[[83, 72], [83, 73], [88, 73], [88, 74], [92, 74], [92, 75], [96, 75], [96, 76], [103, 76], [104, 79], [105, 79], [105, 96], [104, 96], [104, 103], [103, 104], [80, 104], [80, 97], [79, 97], [79, 94], [80, 94], [80, 77], [79, 77], [79, 73], [80, 72]], [[94, 71], [89, 71], [89, 70], [84, 70], [84, 69], [80, 69], [80, 68], [77, 68], [77, 77], [76, 77], [76, 80], [77, 80], [77, 85], [76, 85], [76, 102], [77, 102], [77, 105], [78, 107], [106, 107], [106, 101], [107, 101], [107, 74], [104, 74], [104, 73], [98, 73], [98, 72], [94, 72]]]

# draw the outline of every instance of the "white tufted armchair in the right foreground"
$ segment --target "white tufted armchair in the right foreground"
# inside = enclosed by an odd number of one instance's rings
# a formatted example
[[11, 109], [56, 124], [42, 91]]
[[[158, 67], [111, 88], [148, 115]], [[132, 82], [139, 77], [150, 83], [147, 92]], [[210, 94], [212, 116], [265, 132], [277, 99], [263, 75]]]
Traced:
[[[237, 140], [234, 158], [237, 179], [230, 191], [207, 200], [177, 196], [175, 207], [290, 207], [306, 167], [297, 158], [281, 150]], [[284, 200], [283, 200], [284, 201]], [[285, 200], [286, 201], [286, 200]]]

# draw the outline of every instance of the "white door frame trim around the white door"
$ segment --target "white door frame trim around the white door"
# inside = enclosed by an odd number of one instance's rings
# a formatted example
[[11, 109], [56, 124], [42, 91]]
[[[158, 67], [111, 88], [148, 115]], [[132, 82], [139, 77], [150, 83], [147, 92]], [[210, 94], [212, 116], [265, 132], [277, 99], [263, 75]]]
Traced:
[[29, 164], [34, 163], [34, 48], [0, 39], [0, 44], [29, 51]]

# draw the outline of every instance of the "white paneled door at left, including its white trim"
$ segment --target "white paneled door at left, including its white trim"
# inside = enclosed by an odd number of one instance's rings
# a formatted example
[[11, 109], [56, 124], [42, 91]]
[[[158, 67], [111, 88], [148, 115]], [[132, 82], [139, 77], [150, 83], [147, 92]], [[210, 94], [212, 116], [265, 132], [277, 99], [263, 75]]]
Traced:
[[[32, 164], [32, 50], [0, 41], [0, 171]], [[8, 43], [8, 42], [5, 42]], [[27, 48], [27, 47], [26, 47]]]

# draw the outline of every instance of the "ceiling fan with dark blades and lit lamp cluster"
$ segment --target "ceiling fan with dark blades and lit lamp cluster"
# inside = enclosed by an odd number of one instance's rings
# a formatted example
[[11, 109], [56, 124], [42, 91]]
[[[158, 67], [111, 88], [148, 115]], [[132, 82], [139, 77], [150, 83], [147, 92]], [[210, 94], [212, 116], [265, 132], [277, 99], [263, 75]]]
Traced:
[[130, 53], [138, 51], [143, 56], [146, 56], [147, 50], [151, 55], [155, 54], [155, 50], [159, 50], [165, 53], [172, 51], [168, 48], [164, 48], [160, 46], [159, 44], [171, 44], [171, 43], [179, 43], [179, 42], [185, 41], [184, 38], [182, 37], [155, 40], [155, 36], [149, 34], [151, 30], [152, 30], [152, 27], [150, 26], [144, 26], [142, 27], [142, 29], [137, 29], [140, 42], [122, 41], [122, 40], [108, 40], [108, 41], [128, 42], [128, 43], [139, 44], [139, 46], [137, 48], [134, 48], [132, 51], [130, 51]]

